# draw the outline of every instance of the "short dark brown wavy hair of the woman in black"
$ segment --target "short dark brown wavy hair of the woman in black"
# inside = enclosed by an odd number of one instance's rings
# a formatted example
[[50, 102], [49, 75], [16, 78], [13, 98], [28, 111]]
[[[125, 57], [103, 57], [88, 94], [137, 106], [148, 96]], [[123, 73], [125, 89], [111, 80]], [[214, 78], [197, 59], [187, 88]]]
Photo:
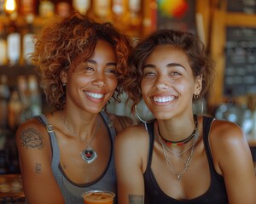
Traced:
[[170, 44], [173, 48], [182, 50], [188, 56], [194, 77], [202, 77], [202, 90], [197, 99], [201, 99], [203, 95], [207, 94], [212, 85], [215, 75], [214, 63], [212, 59], [208, 58], [203, 43], [194, 34], [174, 30], [155, 31], [137, 43], [128, 59], [130, 69], [123, 82], [123, 88], [133, 101], [131, 111], [135, 111], [135, 105], [142, 99], [141, 82], [146, 59], [154, 51], [154, 48], [162, 44]]

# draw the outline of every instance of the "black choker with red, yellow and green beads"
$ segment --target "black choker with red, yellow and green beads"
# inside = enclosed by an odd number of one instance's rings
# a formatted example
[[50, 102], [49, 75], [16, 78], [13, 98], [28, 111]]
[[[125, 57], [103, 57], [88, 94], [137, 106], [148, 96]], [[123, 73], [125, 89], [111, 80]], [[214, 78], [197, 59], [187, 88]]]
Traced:
[[193, 139], [195, 137], [195, 134], [196, 134], [196, 131], [197, 131], [197, 116], [194, 115], [194, 124], [195, 124], [195, 128], [194, 128], [194, 131], [193, 133], [191, 133], [189, 135], [188, 138], [186, 139], [182, 139], [182, 140], [179, 140], [179, 141], [170, 141], [170, 140], [167, 140], [165, 138], [162, 137], [162, 135], [160, 134], [160, 129], [158, 127], [158, 134], [160, 136], [160, 139], [168, 146], [181, 146], [183, 144], [187, 144], [191, 139]]

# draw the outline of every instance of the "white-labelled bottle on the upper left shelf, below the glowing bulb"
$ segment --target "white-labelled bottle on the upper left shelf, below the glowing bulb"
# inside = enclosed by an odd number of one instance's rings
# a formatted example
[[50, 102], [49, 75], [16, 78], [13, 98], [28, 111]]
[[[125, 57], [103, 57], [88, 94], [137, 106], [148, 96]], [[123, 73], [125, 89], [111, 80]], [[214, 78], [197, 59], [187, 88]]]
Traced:
[[9, 31], [7, 36], [7, 57], [9, 65], [17, 65], [20, 63], [21, 37], [20, 31], [15, 24], [16, 19], [16, 13], [10, 14]]

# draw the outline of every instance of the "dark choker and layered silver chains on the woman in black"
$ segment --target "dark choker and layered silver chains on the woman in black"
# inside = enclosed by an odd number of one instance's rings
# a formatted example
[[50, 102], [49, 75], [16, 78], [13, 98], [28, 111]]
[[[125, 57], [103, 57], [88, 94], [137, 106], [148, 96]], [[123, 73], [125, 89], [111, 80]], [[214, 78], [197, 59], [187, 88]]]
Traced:
[[[159, 137], [159, 142], [162, 145], [163, 153], [164, 153], [164, 156], [165, 156], [165, 159], [166, 159], [166, 165], [169, 168], [169, 170], [171, 171], [171, 173], [173, 173], [177, 177], [178, 180], [180, 180], [180, 178], [182, 177], [183, 173], [185, 173], [189, 169], [189, 165], [190, 165], [190, 163], [192, 161], [192, 157], [193, 157], [194, 150], [195, 150], [195, 143], [196, 143], [196, 141], [198, 139], [198, 128], [197, 128], [198, 124], [197, 123], [198, 123], [197, 122], [197, 116], [194, 116], [195, 128], [194, 128], [193, 133], [191, 133], [188, 138], [180, 140], [180, 141], [169, 141], [167, 139], [164, 139], [160, 135], [160, 131], [159, 131], [159, 127], [158, 127], [158, 132], [159, 132], [159, 136], [160, 136]], [[189, 141], [191, 141], [191, 139], [194, 139], [193, 143], [191, 145], [189, 145], [188, 148], [186, 148], [185, 150], [183, 150], [181, 152], [176, 152], [174, 150], [171, 150], [168, 147], [168, 145], [169, 146], [179, 146], [179, 145], [187, 144], [187, 143], [189, 143]], [[184, 168], [183, 168], [183, 170], [178, 171], [178, 172], [174, 171], [173, 167], [172, 167], [171, 159], [170, 159], [170, 157], [168, 155], [168, 151], [171, 152], [172, 154], [177, 155], [177, 156], [181, 156], [181, 155], [183, 155], [183, 153], [185, 153], [188, 150], [190, 150], [190, 153], [189, 153], [189, 156], [188, 156], [187, 160], [184, 161]]]

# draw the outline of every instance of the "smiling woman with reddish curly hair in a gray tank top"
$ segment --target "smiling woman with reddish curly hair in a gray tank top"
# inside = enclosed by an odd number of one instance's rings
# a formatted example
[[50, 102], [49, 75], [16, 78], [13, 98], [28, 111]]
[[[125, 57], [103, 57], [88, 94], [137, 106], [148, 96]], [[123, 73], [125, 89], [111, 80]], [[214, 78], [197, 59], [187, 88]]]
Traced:
[[74, 13], [50, 20], [34, 42], [32, 59], [55, 111], [16, 133], [26, 202], [82, 204], [88, 190], [116, 193], [113, 139], [133, 121], [102, 110], [111, 97], [119, 101], [130, 40]]

